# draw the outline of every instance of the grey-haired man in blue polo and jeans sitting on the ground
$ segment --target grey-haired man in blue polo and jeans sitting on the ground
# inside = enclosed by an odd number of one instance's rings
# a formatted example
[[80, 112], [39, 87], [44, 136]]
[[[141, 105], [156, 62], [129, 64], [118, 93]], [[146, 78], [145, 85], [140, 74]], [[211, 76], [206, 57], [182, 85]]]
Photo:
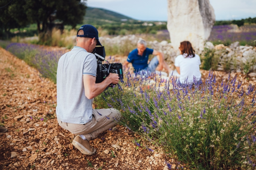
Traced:
[[[153, 59], [148, 64], [148, 56], [155, 55]], [[137, 42], [137, 48], [132, 50], [128, 55], [127, 61], [124, 62], [124, 68], [127, 69], [127, 64], [132, 63], [135, 72], [144, 71], [147, 73], [154, 72], [158, 66], [159, 70], [163, 68], [168, 71], [169, 74], [172, 73], [172, 70], [169, 68], [167, 63], [164, 61], [164, 54], [156, 51], [151, 48], [147, 48], [147, 42], [143, 39], [140, 39]]]

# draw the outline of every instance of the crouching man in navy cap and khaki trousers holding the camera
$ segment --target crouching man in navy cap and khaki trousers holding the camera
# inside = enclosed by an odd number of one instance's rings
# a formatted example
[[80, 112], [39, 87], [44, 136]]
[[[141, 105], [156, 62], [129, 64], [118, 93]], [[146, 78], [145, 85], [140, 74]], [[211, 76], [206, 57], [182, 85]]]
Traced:
[[110, 73], [95, 83], [97, 61], [92, 51], [99, 42], [98, 30], [83, 25], [77, 32], [77, 45], [60, 57], [57, 68], [57, 107], [59, 125], [77, 135], [72, 144], [83, 154], [96, 152], [89, 141], [115, 125], [121, 114], [115, 109], [92, 109], [93, 98], [111, 83], [117, 84], [118, 74]]

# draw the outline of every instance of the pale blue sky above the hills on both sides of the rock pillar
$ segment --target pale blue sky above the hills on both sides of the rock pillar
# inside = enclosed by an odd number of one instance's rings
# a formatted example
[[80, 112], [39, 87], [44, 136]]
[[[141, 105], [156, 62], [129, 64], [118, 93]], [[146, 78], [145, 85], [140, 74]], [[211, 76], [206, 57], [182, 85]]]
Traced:
[[[209, 1], [217, 21], [256, 17], [256, 0]], [[136, 20], [167, 21], [167, 0], [87, 0], [87, 6], [104, 8]]]

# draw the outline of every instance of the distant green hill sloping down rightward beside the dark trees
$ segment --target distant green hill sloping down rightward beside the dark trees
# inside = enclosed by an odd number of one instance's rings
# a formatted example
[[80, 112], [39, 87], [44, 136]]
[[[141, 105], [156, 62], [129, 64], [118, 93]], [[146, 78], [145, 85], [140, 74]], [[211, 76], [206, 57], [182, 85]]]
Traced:
[[86, 9], [86, 15], [84, 17], [84, 23], [88, 24], [96, 24], [96, 25], [102, 25], [102, 24], [108, 24], [108, 23], [119, 23], [122, 21], [129, 21], [134, 22], [137, 20], [134, 20], [130, 17], [124, 16], [122, 14], [102, 9], [102, 8], [92, 8], [88, 7]]

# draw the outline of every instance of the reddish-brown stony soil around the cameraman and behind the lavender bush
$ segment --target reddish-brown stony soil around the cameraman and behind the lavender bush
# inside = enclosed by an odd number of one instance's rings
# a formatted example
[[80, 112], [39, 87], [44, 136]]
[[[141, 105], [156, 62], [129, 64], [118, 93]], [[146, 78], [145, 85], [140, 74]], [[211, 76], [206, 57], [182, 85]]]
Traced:
[[[201, 70], [203, 80], [208, 71]], [[215, 71], [216, 81], [228, 74]], [[237, 81], [243, 85], [256, 84], [243, 74]], [[233, 77], [235, 73], [231, 74]], [[154, 152], [140, 147], [134, 139], [140, 138], [123, 126], [107, 130], [90, 141], [97, 149], [92, 155], [83, 155], [71, 144], [74, 135], [62, 129], [57, 122], [56, 84], [42, 78], [40, 73], [0, 48], [0, 116], [8, 128], [0, 134], [0, 170], [6, 169], [167, 169], [165, 160], [175, 168], [176, 161], [166, 157], [161, 148], [151, 146]], [[145, 144], [145, 143], [144, 143]]]

